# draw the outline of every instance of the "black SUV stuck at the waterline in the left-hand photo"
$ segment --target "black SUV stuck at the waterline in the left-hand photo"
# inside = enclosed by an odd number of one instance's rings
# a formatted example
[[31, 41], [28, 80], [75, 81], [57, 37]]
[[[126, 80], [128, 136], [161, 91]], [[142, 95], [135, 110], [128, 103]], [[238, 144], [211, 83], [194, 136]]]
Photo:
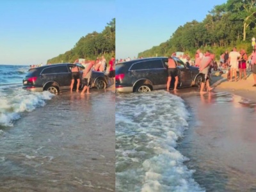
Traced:
[[[48, 90], [51, 93], [70, 90], [72, 67], [74, 67], [74, 64], [60, 63], [31, 68], [23, 79], [22, 88], [36, 92]], [[80, 77], [82, 75], [83, 71], [80, 71]], [[76, 84], [75, 81], [74, 89], [76, 89]], [[104, 73], [92, 71], [91, 87], [104, 89], [107, 84], [108, 77]]]

